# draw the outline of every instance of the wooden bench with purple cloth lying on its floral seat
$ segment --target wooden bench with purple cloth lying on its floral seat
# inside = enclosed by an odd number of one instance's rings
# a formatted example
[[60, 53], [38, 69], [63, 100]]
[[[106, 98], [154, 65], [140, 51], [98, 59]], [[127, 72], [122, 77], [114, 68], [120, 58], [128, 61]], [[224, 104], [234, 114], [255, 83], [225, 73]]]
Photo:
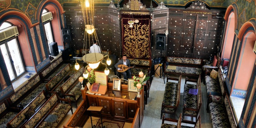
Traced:
[[[197, 84], [188, 84], [187, 82], [196, 82]], [[189, 94], [189, 89], [198, 89], [197, 95]], [[188, 80], [186, 77], [184, 85], [184, 97], [183, 97], [183, 113], [184, 116], [196, 117], [199, 114], [202, 105], [201, 95], [201, 77], [199, 75], [198, 80]]]

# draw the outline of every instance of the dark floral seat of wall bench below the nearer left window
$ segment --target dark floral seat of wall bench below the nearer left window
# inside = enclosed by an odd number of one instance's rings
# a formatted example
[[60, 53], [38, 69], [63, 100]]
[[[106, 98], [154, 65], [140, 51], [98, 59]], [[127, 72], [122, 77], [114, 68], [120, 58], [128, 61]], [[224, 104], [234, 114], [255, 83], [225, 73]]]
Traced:
[[35, 97], [37, 97], [43, 90], [45, 90], [46, 83], [41, 83], [37, 88], [35, 88], [26, 98], [24, 98], [20, 103], [25, 107], [27, 106]]

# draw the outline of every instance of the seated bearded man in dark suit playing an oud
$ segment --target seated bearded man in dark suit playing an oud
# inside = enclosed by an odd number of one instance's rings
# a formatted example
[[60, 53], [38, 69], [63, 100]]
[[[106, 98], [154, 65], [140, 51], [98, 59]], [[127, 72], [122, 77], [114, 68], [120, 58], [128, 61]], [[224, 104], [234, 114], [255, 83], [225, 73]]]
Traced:
[[[120, 59], [120, 60], [115, 64], [115, 68], [116, 68], [117, 70], [122, 71], [123, 69], [120, 69], [120, 68], [117, 67], [118, 65], [121, 65], [121, 64], [130, 67], [130, 60], [127, 59], [127, 56], [126, 56], [126, 55], [123, 55], [123, 58]], [[117, 72], [117, 73], [123, 74], [125, 80], [128, 80], [128, 79], [131, 77], [131, 70], [130, 70], [130, 69], [126, 70], [125, 72]]]

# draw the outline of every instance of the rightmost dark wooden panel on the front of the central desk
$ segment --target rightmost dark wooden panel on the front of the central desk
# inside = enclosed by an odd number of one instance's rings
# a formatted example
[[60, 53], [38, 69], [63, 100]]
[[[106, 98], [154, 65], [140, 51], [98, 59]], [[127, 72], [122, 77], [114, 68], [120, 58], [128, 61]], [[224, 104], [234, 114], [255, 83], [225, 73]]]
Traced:
[[133, 120], [137, 111], [137, 103], [126, 101], [127, 119]]

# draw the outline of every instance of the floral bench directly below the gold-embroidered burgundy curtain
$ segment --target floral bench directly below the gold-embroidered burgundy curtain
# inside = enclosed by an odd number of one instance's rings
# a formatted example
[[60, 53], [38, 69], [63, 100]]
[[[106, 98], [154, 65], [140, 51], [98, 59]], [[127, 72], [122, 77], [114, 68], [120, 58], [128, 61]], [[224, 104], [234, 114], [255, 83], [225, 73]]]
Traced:
[[151, 60], [145, 60], [145, 59], [133, 59], [133, 58], [127, 58], [130, 60], [130, 66], [135, 66], [134, 68], [130, 68], [131, 70], [131, 76], [139, 75], [139, 72], [142, 71], [147, 76], [151, 76], [150, 70], [151, 70]]

